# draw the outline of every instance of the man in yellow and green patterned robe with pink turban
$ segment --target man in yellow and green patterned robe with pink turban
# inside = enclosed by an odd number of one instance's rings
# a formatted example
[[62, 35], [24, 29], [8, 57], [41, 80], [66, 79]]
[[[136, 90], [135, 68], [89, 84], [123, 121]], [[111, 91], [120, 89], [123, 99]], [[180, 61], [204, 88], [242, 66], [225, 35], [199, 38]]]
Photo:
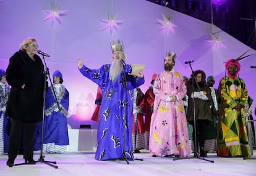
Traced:
[[243, 79], [237, 76], [240, 63], [231, 59], [226, 62], [228, 76], [220, 80], [220, 115], [218, 116], [218, 156], [250, 157], [245, 127], [244, 106], [248, 94]]

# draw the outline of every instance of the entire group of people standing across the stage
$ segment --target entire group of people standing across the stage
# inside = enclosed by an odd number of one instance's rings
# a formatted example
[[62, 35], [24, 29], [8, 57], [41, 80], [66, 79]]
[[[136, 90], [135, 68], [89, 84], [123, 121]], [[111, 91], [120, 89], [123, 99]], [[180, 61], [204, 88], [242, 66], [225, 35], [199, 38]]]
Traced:
[[[25, 39], [7, 70], [0, 70], [0, 154], [8, 154], [9, 167], [21, 150], [25, 162], [35, 164], [34, 150], [64, 153], [69, 145], [69, 92], [59, 70], [48, 86], [37, 49], [35, 39]], [[152, 157], [176, 158], [190, 153], [202, 157], [253, 154], [253, 100], [238, 75], [241, 58], [225, 63], [226, 75], [215, 89], [213, 76], [207, 78], [202, 70], [190, 78], [174, 71], [176, 54], [168, 52], [164, 70], [153, 74], [144, 94], [139, 88], [145, 82], [144, 66], [125, 63], [120, 41], [113, 41], [111, 49], [111, 63], [99, 69], [77, 60], [80, 73], [98, 84], [92, 115], [99, 123], [96, 160], [134, 159], [140, 150], [149, 150]]]

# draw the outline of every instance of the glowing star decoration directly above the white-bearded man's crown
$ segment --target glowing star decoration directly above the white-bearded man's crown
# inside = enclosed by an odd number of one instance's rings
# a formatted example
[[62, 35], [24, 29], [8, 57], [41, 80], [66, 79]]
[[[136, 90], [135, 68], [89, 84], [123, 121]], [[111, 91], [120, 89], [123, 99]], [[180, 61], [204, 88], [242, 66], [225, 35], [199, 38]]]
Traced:
[[116, 17], [117, 15], [114, 15], [114, 17], [112, 17], [108, 13], [108, 20], [100, 20], [100, 22], [106, 23], [106, 26], [101, 31], [104, 31], [109, 28], [111, 35], [114, 30], [117, 31], [117, 28], [119, 27], [119, 25], [122, 24], [122, 22], [124, 22], [124, 20], [116, 20]]

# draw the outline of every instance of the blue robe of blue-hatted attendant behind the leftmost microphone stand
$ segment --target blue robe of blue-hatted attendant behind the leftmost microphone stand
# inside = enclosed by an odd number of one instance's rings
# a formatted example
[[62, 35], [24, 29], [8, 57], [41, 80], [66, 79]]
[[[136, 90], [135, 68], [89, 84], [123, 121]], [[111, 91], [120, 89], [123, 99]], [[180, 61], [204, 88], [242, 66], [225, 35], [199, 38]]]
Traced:
[[[65, 86], [61, 85], [57, 100], [61, 110], [58, 108], [53, 93], [53, 87], [49, 87], [45, 96], [45, 121], [43, 143], [55, 143], [55, 145], [69, 145], [69, 135], [67, 129], [67, 115], [69, 110], [69, 92]], [[42, 122], [38, 122], [35, 134], [35, 148], [41, 149], [41, 128]]]

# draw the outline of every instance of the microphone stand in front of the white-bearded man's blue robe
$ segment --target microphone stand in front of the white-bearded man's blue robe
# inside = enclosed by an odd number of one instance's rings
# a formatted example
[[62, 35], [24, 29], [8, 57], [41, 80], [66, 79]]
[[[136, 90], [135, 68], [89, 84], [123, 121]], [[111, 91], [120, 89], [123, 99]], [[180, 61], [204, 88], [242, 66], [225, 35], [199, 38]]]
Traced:
[[[122, 69], [122, 72], [124, 73], [124, 82], [125, 82], [125, 87], [126, 87], [126, 90], [128, 90], [128, 85], [127, 85], [127, 79], [126, 79], [126, 72], [125, 72], [125, 69], [126, 69], [126, 63], [123, 61], [123, 60], [121, 60], [121, 63], [122, 63], [122, 66], [123, 66], [123, 69]], [[126, 93], [127, 91], [124, 91], [124, 97], [125, 97], [125, 100], [127, 99], [126, 97], [127, 97], [127, 93]], [[134, 161], [134, 159], [133, 158], [127, 158], [127, 156], [126, 156], [126, 133], [124, 132], [124, 130], [126, 129], [126, 118], [127, 118], [127, 116], [126, 116], [126, 110], [127, 110], [127, 108], [126, 108], [126, 105], [124, 106], [124, 121], [123, 121], [123, 141], [124, 141], [124, 145], [123, 145], [123, 153], [122, 153], [122, 157], [121, 158], [119, 158], [119, 159], [121, 159], [121, 160], [124, 160], [124, 161], [126, 161], [126, 164], [130, 164], [130, 162], [128, 161], [128, 160], [130, 160], [130, 161]], [[143, 159], [137, 159], [136, 158], [136, 160], [140, 160], [140, 161], [143, 161]]]

